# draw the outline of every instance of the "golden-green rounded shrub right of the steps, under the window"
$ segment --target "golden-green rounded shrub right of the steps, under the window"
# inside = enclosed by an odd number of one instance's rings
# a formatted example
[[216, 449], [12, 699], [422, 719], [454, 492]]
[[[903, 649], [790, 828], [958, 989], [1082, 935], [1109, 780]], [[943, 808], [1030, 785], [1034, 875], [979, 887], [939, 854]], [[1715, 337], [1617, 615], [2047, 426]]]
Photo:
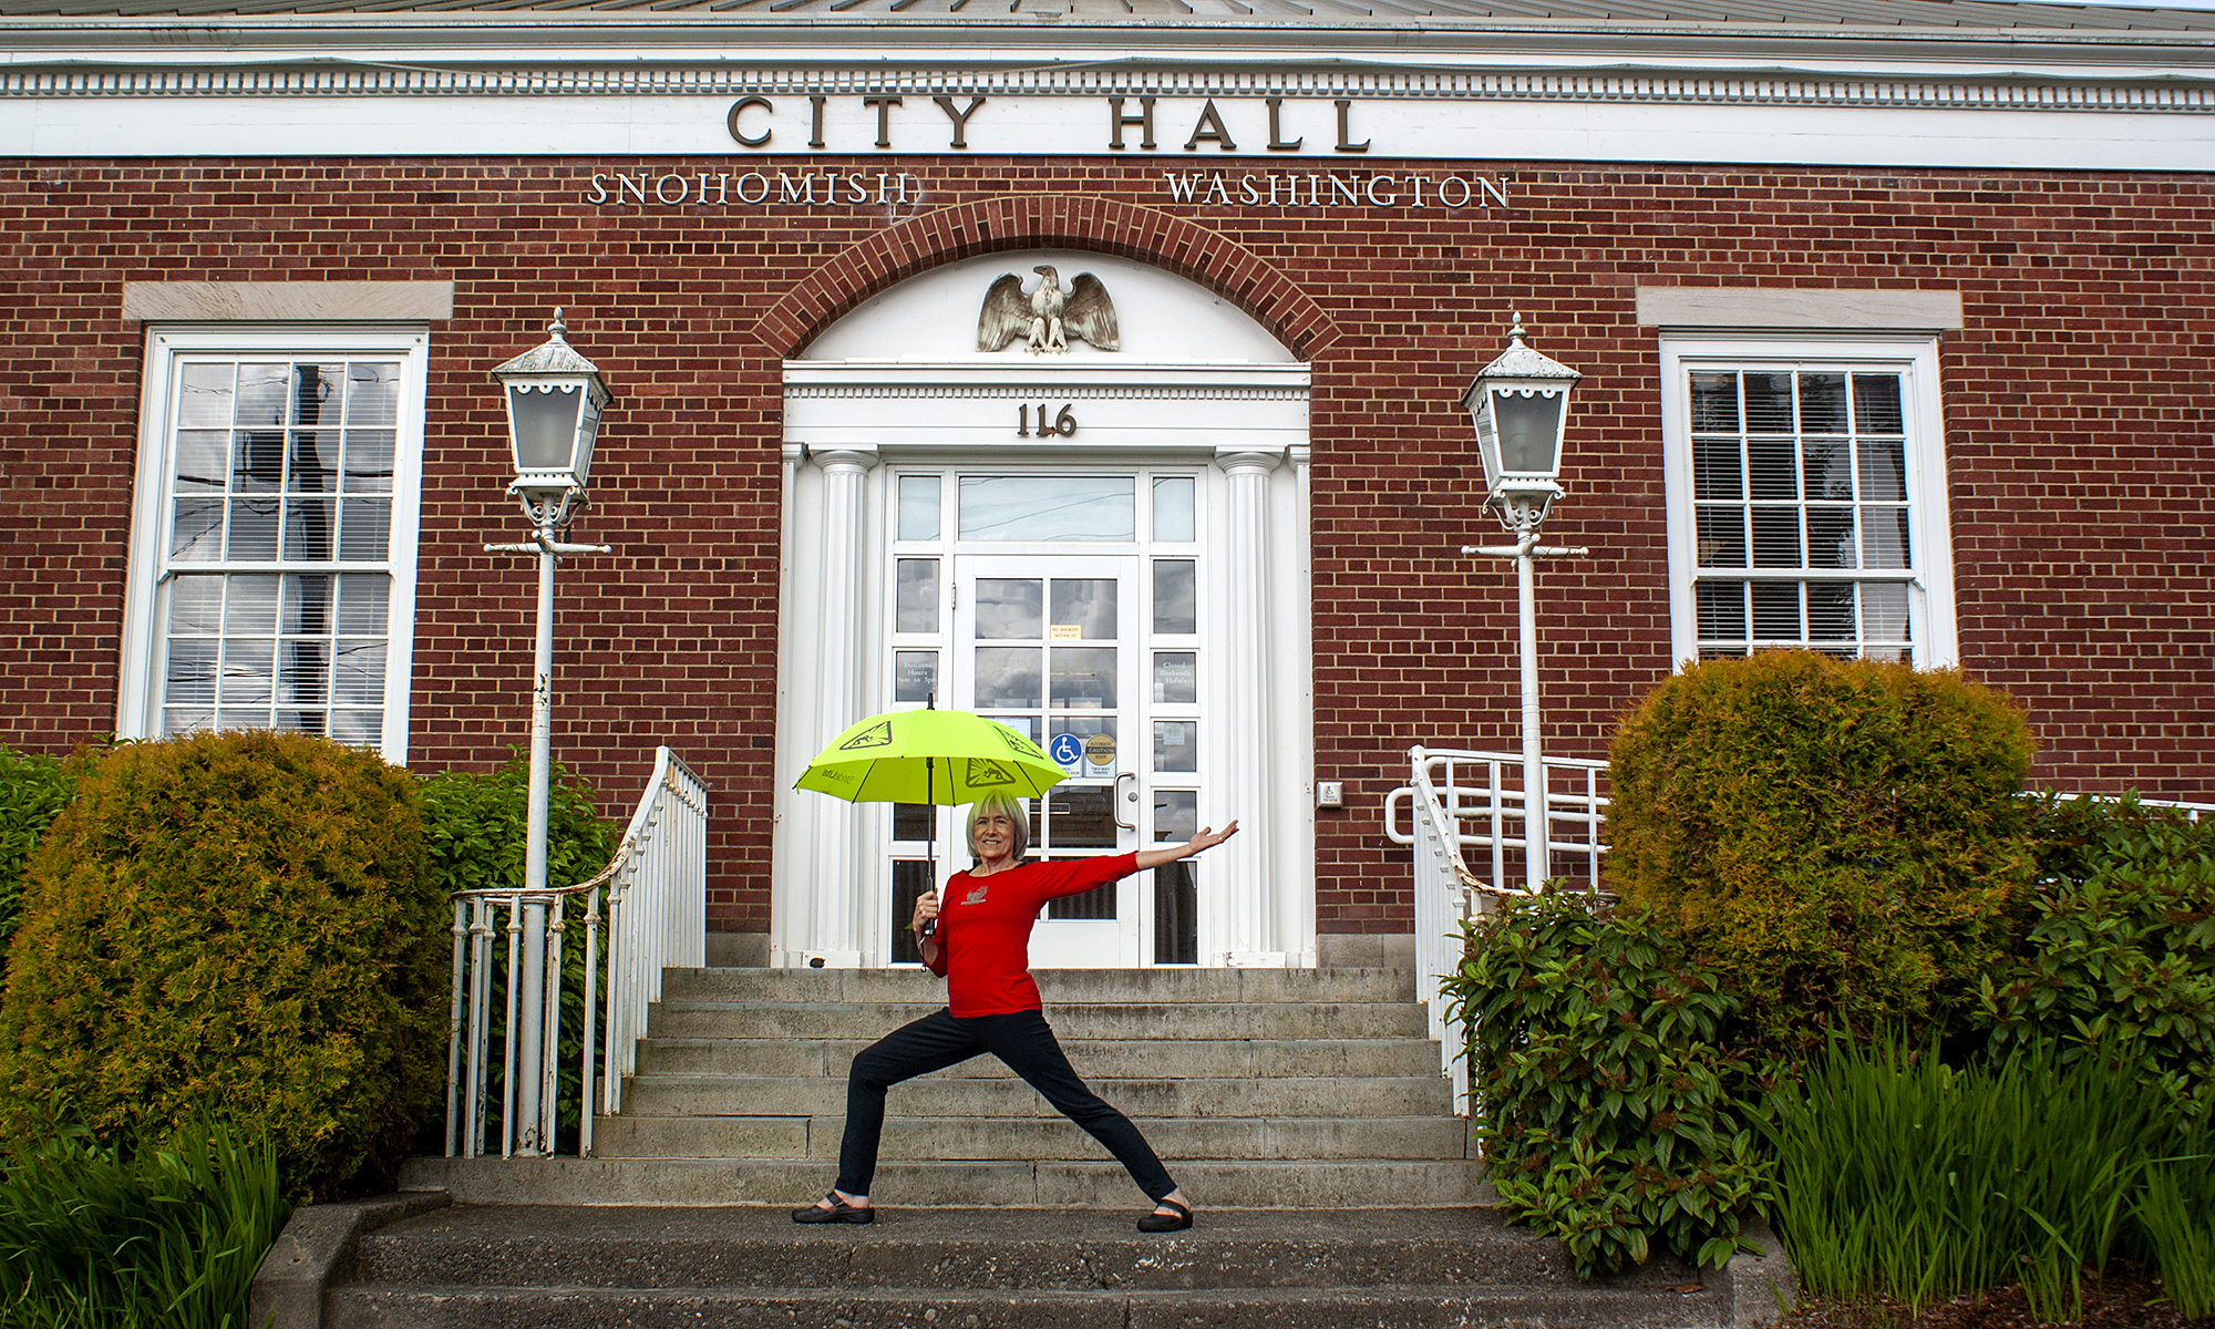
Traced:
[[2031, 879], [2022, 718], [1956, 673], [1765, 651], [1657, 687], [1610, 751], [1608, 882], [1774, 1050], [1960, 1028]]

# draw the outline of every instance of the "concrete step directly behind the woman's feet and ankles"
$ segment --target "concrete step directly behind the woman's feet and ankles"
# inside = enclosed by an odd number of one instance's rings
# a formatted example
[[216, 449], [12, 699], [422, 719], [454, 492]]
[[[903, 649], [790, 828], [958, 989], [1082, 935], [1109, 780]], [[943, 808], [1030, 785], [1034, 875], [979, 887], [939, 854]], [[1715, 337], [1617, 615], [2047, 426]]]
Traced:
[[[1185, 1194], [1238, 1209], [1491, 1205], [1473, 1158], [1176, 1158]], [[463, 1205], [797, 1205], [837, 1181], [811, 1158], [410, 1158], [403, 1189]], [[888, 1161], [870, 1187], [888, 1207], [1014, 1205], [1125, 1209], [1143, 1203], [1119, 1163], [1088, 1158]], [[890, 1212], [890, 1209], [888, 1209]]]

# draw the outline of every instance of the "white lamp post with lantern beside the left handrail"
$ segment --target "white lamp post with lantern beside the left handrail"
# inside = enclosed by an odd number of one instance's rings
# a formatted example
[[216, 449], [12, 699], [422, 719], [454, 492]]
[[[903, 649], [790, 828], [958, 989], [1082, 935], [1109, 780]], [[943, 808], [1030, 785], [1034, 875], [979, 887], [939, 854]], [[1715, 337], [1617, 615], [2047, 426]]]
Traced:
[[[507, 441], [514, 447], [516, 478], [507, 494], [523, 503], [534, 534], [521, 545], [485, 545], [487, 554], [538, 556], [538, 647], [532, 662], [532, 795], [529, 826], [523, 851], [523, 890], [547, 886], [547, 784], [554, 766], [554, 565], [569, 554], [611, 554], [607, 545], [567, 545], [558, 536], [585, 505], [585, 483], [591, 476], [591, 443], [600, 432], [600, 410], [611, 401], [600, 370], [571, 348], [563, 334], [560, 310], [547, 328], [547, 341], [492, 370], [507, 396]], [[545, 1083], [554, 1072], [545, 1048], [558, 1037], [560, 1012], [545, 1001], [547, 961], [545, 897], [523, 904], [523, 972], [509, 975], [516, 986], [516, 1119], [523, 1130], [516, 1154], [529, 1158], [554, 1152], [554, 1090]], [[516, 1037], [516, 1034], [509, 1034]], [[589, 1105], [587, 1105], [589, 1110]]]

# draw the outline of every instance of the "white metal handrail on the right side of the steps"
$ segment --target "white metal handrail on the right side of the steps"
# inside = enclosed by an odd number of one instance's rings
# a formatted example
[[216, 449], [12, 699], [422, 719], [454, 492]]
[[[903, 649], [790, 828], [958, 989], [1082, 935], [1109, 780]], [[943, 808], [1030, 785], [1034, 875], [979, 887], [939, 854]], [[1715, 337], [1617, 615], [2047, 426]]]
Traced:
[[[1438, 1039], [1440, 1074], [1453, 1085], [1453, 1112], [1469, 1116], [1466, 1039], [1457, 1037], [1446, 1012], [1444, 979], [1462, 964], [1460, 921], [1475, 917], [1486, 897], [1524, 895], [1508, 882], [1506, 848], [1519, 846], [1524, 804], [1519, 791], [1508, 797], [1504, 775], [1522, 777], [1522, 753], [1473, 753], [1413, 746], [1409, 784], [1384, 797], [1384, 835], [1393, 844], [1415, 846], [1415, 966], [1424, 975], [1424, 1008], [1431, 1037]], [[1584, 879], [1599, 888], [1599, 857], [1606, 853], [1599, 833], [1608, 800], [1599, 791], [1606, 762], [1546, 758], [1546, 877], [1553, 857], [1568, 853], [1584, 859]], [[1469, 775], [1484, 773], [1475, 786]], [[1407, 806], [1409, 828], [1400, 831], [1400, 806]], [[1475, 820], [1477, 828], [1464, 828]], [[1515, 828], [1508, 828], [1508, 822]], [[1469, 870], [1464, 846], [1491, 848], [1491, 884]], [[1519, 879], [1519, 877], [1517, 877]]]

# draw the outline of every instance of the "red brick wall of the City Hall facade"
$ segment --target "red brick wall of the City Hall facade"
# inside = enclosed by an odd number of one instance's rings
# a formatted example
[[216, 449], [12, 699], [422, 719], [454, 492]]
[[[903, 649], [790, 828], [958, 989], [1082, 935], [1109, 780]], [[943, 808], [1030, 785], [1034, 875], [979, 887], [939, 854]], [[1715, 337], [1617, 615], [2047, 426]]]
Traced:
[[[2215, 800], [2215, 182], [1987, 171], [1550, 171], [1506, 210], [1201, 210], [1158, 162], [906, 157], [906, 208], [591, 206], [607, 162], [40, 162], [0, 168], [0, 742], [113, 727], [144, 332], [124, 281], [447, 279], [432, 330], [412, 762], [527, 733], [532, 578], [492, 363], [567, 306], [614, 381], [563, 569], [556, 751], [631, 800], [656, 742], [715, 786], [711, 926], [766, 928], [777, 361], [937, 264], [1096, 248], [1225, 292], [1313, 361], [1325, 933], [1404, 930], [1378, 835], [1411, 742], [1517, 744], [1515, 596], [1460, 390], [1506, 310], [1584, 370], [1542, 571], [1548, 751], [1601, 755], [1668, 669], [1659, 383], [1635, 286], [1958, 288], [1940, 341], [1962, 660], [2062, 789]], [[729, 171], [729, 162], [653, 162]], [[882, 171], [875, 159], [817, 171]], [[1333, 164], [1347, 171], [1345, 164]], [[1393, 162], [1362, 162], [1404, 173]], [[1462, 168], [1462, 175], [1471, 175]], [[1435, 175], [1435, 171], [1433, 171]]]

